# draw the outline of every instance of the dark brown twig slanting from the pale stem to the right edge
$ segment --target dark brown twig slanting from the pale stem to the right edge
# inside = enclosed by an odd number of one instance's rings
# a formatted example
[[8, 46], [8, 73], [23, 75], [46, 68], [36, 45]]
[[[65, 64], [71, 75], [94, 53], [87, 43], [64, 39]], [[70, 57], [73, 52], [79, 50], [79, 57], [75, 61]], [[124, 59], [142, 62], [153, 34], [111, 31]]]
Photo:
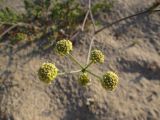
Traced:
[[96, 35], [96, 34], [98, 34], [99, 32], [103, 31], [104, 29], [109, 28], [109, 27], [111, 27], [111, 26], [113, 26], [113, 25], [115, 25], [115, 24], [117, 24], [117, 23], [119, 23], [119, 22], [121, 22], [121, 21], [130, 19], [130, 18], [133, 18], [133, 17], [135, 17], [135, 16], [140, 16], [140, 15], [142, 15], [142, 14], [147, 14], [147, 13], [149, 13], [149, 12], [151, 12], [151, 13], [152, 13], [152, 12], [160, 12], [160, 10], [152, 10], [152, 11], [151, 11], [151, 10], [145, 10], [145, 11], [143, 11], [143, 12], [136, 13], [136, 14], [133, 14], [133, 15], [130, 15], [130, 16], [121, 18], [121, 19], [119, 19], [119, 20], [116, 20], [116, 21], [110, 23], [109, 25], [103, 26], [103, 27], [100, 28], [99, 30], [95, 31], [94, 34]]

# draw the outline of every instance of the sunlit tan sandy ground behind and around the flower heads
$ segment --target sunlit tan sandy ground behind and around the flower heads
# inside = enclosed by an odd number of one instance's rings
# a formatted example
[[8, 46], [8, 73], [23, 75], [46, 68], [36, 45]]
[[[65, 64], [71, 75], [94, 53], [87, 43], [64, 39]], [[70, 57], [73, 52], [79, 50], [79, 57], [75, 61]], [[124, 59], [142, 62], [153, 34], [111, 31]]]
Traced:
[[[100, 18], [111, 22], [153, 1], [117, 0], [113, 11]], [[90, 42], [87, 36], [77, 39], [72, 52], [82, 63]], [[1, 44], [0, 120], [159, 120], [159, 13], [127, 20], [96, 36], [94, 48], [101, 49], [106, 59], [104, 65], [92, 68], [100, 75], [107, 70], [119, 74], [120, 84], [114, 92], [105, 91], [94, 77], [88, 87], [78, 84], [77, 75], [58, 77], [51, 85], [41, 83], [37, 70], [43, 62], [54, 62], [60, 69], [77, 68], [52, 49], [42, 50], [43, 43]]]

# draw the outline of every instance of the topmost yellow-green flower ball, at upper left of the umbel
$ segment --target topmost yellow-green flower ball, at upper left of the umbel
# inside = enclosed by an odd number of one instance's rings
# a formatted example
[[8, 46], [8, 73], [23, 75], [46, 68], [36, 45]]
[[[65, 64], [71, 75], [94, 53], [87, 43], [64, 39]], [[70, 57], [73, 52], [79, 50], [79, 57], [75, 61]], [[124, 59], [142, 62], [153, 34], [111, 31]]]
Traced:
[[72, 49], [72, 42], [70, 40], [63, 39], [56, 44], [56, 52], [62, 56], [69, 54]]

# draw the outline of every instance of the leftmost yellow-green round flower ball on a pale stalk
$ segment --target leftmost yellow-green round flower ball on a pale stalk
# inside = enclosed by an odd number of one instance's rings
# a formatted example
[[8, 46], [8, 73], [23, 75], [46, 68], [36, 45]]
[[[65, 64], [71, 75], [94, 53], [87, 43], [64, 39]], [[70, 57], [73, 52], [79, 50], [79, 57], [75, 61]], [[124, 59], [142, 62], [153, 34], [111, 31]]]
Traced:
[[51, 83], [57, 76], [58, 69], [52, 63], [43, 63], [38, 70], [39, 79], [45, 83]]

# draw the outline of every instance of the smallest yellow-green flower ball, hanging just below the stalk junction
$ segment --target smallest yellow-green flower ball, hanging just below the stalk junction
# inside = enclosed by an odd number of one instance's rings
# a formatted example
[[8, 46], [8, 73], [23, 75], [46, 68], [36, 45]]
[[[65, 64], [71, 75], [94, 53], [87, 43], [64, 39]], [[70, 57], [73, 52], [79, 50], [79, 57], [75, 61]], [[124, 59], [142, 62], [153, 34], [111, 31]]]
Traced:
[[79, 84], [81, 84], [82, 86], [87, 85], [90, 82], [90, 79], [88, 77], [87, 73], [82, 73], [79, 75], [79, 79], [78, 79]]

